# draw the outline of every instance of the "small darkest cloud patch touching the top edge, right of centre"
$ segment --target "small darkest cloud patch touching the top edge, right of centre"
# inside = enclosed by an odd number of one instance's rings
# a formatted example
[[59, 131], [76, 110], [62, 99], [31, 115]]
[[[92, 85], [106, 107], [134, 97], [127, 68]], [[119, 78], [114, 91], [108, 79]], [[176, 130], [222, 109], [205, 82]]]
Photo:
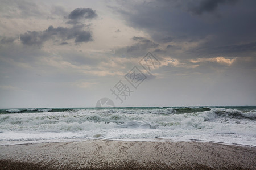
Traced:
[[189, 8], [193, 14], [201, 15], [204, 12], [213, 12], [221, 3], [236, 3], [237, 0], [203, 0], [196, 7]]

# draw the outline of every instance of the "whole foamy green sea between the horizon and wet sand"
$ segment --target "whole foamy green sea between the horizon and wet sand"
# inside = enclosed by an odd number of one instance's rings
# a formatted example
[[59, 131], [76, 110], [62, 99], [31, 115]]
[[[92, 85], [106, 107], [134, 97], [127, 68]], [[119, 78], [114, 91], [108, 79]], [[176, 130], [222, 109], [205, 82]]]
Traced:
[[0, 109], [0, 145], [89, 139], [256, 146], [256, 107]]

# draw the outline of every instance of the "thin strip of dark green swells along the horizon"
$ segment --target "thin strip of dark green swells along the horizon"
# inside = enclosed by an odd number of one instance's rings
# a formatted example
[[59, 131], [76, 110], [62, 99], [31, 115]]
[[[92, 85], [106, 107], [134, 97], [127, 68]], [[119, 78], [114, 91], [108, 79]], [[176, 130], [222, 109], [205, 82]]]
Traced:
[[41, 112], [88, 112], [129, 113], [129, 114], [185, 114], [214, 111], [216, 114], [229, 114], [255, 118], [256, 107], [129, 107], [129, 108], [26, 108], [0, 109], [0, 114], [41, 113]]

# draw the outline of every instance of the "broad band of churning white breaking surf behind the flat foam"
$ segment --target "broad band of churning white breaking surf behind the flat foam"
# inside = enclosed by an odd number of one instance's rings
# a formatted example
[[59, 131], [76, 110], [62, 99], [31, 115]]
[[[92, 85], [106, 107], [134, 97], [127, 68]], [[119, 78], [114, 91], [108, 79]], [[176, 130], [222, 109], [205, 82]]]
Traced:
[[254, 111], [242, 112], [237, 109], [225, 108], [212, 108], [203, 112], [182, 114], [174, 112], [175, 109], [166, 108], [2, 114], [0, 115], [0, 131], [59, 132], [109, 128], [214, 129], [219, 128], [220, 125], [226, 127], [226, 124], [245, 126], [246, 119], [253, 121], [256, 116]]

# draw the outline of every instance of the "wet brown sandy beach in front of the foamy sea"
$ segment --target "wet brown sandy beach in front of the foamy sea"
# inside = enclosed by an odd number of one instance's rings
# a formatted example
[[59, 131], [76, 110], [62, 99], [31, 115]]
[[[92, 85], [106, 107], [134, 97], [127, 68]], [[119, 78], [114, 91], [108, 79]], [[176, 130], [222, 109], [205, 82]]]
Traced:
[[93, 140], [0, 146], [0, 169], [255, 169], [256, 148]]

